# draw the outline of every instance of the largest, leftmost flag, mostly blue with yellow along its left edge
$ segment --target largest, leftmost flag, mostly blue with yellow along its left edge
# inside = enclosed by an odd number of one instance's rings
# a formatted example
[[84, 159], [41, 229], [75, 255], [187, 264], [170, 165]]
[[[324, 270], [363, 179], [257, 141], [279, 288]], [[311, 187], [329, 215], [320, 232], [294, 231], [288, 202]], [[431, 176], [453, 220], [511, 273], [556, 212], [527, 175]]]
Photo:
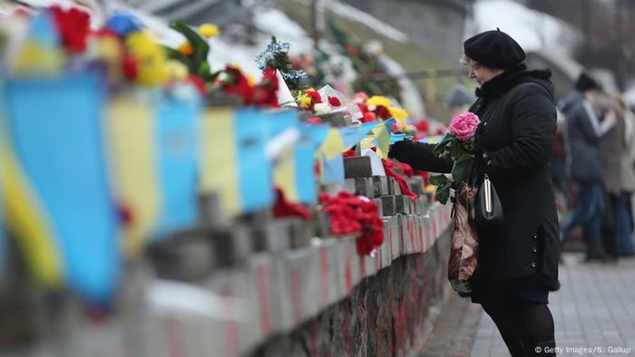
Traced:
[[112, 302], [122, 266], [101, 83], [95, 73], [8, 82], [0, 160], [7, 225], [32, 271], [92, 304]]

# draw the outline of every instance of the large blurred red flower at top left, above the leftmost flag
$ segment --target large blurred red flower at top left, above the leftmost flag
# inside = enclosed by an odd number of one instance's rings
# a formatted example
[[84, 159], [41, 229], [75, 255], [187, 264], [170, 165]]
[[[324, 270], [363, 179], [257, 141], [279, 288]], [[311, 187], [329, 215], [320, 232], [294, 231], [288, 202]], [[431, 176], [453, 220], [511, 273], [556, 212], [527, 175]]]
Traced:
[[71, 7], [63, 10], [55, 5], [51, 7], [55, 25], [62, 43], [69, 53], [81, 53], [86, 49], [86, 37], [90, 33], [91, 16], [82, 10]]

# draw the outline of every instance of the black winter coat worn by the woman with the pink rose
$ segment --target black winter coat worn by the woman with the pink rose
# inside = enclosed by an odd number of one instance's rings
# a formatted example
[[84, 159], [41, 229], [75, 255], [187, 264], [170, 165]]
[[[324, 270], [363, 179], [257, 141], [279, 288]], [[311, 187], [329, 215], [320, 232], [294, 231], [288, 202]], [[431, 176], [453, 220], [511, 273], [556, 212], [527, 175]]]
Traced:
[[[527, 71], [524, 64], [503, 72], [477, 90], [470, 111], [484, 122], [476, 140], [482, 169], [493, 181], [503, 224], [480, 227], [479, 261], [471, 283], [489, 294], [503, 285], [538, 281], [558, 290], [559, 225], [553, 195], [550, 160], [556, 130], [556, 110], [549, 71]], [[403, 141], [390, 156], [415, 169], [449, 173], [452, 162], [432, 154], [435, 145]], [[480, 175], [482, 176], [482, 175]]]

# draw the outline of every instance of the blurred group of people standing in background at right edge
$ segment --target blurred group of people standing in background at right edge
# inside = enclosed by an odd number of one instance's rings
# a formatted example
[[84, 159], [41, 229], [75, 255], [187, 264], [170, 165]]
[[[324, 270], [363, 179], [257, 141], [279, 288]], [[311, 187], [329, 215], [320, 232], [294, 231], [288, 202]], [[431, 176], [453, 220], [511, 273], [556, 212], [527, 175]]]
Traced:
[[581, 228], [585, 261], [635, 256], [635, 114], [586, 72], [558, 110], [552, 178], [561, 213], [572, 210], [562, 215], [562, 246]]

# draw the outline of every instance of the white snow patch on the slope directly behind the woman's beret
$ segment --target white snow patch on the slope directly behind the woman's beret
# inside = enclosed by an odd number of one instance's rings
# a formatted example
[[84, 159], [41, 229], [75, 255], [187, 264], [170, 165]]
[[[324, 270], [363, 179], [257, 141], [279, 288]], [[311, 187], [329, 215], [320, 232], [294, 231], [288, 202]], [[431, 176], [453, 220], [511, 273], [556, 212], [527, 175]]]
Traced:
[[580, 31], [571, 25], [512, 0], [477, 1], [474, 23], [465, 26], [465, 37], [496, 27], [511, 35], [525, 51], [572, 53], [581, 39]]

